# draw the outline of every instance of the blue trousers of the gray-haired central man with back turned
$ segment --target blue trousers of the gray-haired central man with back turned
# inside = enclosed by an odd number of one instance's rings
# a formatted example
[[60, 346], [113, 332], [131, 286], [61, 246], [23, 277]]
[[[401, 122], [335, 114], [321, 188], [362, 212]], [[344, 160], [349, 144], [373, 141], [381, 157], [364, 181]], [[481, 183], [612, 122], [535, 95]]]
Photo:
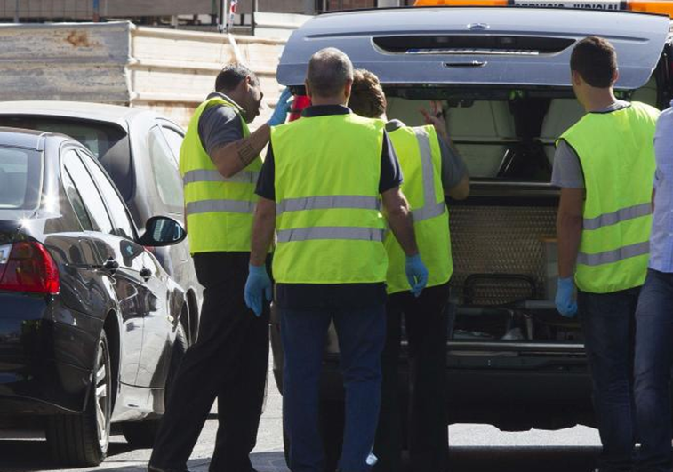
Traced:
[[[290, 440], [292, 472], [324, 472], [324, 449], [318, 428], [320, 372], [324, 341], [334, 321], [346, 389], [346, 422], [339, 468], [365, 472], [372, 451], [381, 404], [381, 351], [385, 309], [281, 308], [284, 349], [283, 420]], [[332, 471], [330, 471], [332, 472]]]

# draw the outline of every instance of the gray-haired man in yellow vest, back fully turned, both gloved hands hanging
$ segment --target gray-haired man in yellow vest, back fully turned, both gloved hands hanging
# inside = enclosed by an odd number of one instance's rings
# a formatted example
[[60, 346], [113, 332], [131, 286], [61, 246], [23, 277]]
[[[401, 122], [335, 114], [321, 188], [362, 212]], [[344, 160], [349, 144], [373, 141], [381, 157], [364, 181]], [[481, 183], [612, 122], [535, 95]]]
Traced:
[[405, 252], [405, 275], [420, 294], [428, 271], [419, 256], [397, 157], [381, 120], [350, 112], [353, 66], [327, 48], [308, 64], [302, 118], [274, 128], [257, 193], [245, 300], [259, 312], [270, 298], [273, 260], [284, 348], [284, 430], [292, 472], [324, 472], [318, 428], [324, 341], [334, 322], [341, 348], [346, 421], [341, 472], [365, 472], [381, 403], [385, 340], [385, 223]]

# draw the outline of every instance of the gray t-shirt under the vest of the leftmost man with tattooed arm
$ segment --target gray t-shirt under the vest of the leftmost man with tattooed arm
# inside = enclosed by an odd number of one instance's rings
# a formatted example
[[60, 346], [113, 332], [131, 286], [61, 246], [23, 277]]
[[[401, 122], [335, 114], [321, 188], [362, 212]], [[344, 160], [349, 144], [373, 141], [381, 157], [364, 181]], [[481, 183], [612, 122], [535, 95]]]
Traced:
[[[213, 97], [221, 97], [236, 103], [219, 92], [208, 95], [208, 99]], [[234, 108], [224, 105], [210, 107], [198, 119], [198, 137], [205, 152], [211, 156], [215, 148], [243, 139], [242, 118]]]

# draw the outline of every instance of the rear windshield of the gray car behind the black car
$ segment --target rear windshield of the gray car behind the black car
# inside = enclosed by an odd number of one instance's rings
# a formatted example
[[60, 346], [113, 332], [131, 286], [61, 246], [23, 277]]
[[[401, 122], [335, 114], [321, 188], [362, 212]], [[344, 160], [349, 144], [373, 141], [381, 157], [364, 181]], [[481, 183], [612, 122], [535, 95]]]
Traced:
[[133, 194], [128, 135], [116, 124], [61, 116], [0, 116], [0, 126], [58, 132], [78, 140], [96, 156], [129, 201]]

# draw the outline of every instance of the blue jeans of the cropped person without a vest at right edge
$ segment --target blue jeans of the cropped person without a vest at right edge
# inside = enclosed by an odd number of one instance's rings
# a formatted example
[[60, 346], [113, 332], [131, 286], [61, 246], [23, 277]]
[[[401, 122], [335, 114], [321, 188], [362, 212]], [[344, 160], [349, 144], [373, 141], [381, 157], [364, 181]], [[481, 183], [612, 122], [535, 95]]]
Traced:
[[636, 312], [636, 415], [639, 472], [670, 472], [670, 370], [673, 274], [650, 269]]

